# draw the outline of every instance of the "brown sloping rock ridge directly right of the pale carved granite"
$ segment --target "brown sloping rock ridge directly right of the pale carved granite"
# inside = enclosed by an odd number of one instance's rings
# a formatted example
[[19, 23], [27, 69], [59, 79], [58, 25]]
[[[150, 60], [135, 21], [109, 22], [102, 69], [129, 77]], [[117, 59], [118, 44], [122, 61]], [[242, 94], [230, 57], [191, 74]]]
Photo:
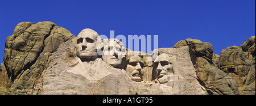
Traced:
[[[214, 65], [212, 44], [197, 39], [186, 39], [185, 42], [189, 46], [197, 78], [208, 94], [239, 94], [236, 82]], [[179, 44], [176, 44], [175, 48], [179, 48]]]

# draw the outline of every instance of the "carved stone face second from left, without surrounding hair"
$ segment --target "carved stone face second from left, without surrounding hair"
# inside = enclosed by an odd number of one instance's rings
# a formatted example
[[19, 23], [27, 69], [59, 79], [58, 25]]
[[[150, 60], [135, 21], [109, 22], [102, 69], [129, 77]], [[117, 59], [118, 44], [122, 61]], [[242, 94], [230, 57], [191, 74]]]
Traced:
[[122, 48], [124, 47], [115, 40], [105, 39], [103, 42], [106, 42], [106, 40], [108, 40], [108, 45], [104, 45], [102, 60], [113, 67], [119, 67], [122, 63]]

